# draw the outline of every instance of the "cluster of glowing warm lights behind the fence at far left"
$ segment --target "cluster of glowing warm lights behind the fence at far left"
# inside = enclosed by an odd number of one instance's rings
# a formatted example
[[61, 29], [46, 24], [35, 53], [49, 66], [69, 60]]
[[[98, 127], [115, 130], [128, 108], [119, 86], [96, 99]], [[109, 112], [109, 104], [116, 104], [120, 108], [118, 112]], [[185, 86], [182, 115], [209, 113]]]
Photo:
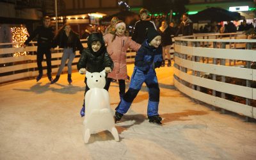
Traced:
[[[13, 47], [19, 48], [22, 47], [24, 42], [28, 39], [27, 35], [28, 35], [28, 30], [26, 27], [24, 26], [20, 26], [20, 27], [12, 27], [11, 28], [12, 31], [12, 42], [13, 43], [19, 43], [19, 44], [14, 44]], [[26, 56], [27, 52], [15, 52], [13, 54], [13, 57], [17, 57], [17, 56]]]

